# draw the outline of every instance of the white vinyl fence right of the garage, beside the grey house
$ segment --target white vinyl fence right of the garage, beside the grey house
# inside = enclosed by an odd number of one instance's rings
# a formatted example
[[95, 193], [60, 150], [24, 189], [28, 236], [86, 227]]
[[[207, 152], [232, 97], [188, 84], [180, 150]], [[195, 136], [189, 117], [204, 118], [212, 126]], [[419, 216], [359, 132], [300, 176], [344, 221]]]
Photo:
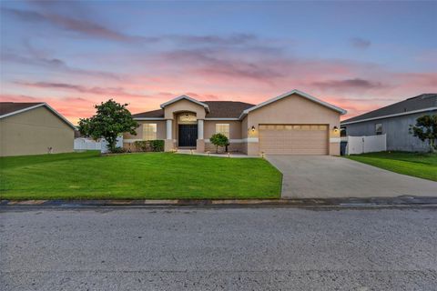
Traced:
[[387, 150], [387, 135], [346, 136], [346, 155], [382, 152]]

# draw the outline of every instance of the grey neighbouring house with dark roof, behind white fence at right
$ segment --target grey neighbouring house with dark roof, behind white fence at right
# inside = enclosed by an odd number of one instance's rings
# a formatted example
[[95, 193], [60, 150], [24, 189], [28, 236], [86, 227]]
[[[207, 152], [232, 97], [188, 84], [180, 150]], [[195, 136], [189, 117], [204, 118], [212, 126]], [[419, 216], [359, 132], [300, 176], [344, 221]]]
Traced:
[[341, 122], [346, 135], [387, 135], [387, 150], [427, 151], [429, 146], [410, 134], [422, 115], [437, 114], [437, 94], [422, 94]]

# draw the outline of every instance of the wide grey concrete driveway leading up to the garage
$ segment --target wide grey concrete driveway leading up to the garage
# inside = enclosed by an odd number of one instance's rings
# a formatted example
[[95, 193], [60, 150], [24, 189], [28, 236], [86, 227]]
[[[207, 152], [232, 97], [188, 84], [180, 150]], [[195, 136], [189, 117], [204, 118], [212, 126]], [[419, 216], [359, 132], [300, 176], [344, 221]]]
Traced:
[[437, 196], [437, 182], [336, 156], [268, 156], [283, 198]]

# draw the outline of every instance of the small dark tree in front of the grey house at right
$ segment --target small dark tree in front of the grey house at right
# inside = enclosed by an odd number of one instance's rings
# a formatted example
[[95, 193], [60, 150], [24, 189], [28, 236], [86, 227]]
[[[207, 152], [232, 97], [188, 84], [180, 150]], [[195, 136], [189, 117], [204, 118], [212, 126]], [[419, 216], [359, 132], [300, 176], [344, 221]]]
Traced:
[[437, 149], [437, 115], [423, 115], [416, 119], [416, 125], [410, 125], [410, 133], [422, 142], [428, 141], [430, 152]]

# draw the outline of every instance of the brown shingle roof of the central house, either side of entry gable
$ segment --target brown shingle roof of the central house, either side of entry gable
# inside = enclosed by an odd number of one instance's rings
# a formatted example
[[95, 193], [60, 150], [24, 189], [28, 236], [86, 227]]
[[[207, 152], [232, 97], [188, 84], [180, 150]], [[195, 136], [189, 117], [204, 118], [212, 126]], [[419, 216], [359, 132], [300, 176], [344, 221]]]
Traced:
[[[239, 118], [241, 113], [255, 105], [239, 101], [201, 101], [209, 107], [206, 118]], [[162, 118], [164, 110], [158, 109], [132, 115], [134, 118]]]

